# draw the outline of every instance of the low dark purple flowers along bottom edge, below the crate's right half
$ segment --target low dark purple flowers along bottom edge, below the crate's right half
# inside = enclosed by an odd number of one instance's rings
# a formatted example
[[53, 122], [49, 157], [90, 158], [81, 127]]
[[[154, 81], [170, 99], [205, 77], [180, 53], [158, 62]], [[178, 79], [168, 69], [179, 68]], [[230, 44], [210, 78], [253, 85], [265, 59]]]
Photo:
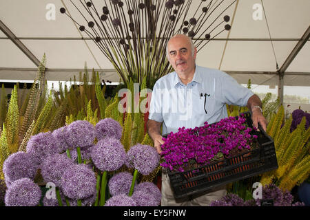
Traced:
[[[304, 203], [292, 203], [293, 196], [286, 190], [283, 192], [278, 186], [269, 184], [262, 187], [262, 199], [271, 199], [273, 206], [304, 206]], [[260, 206], [262, 199], [249, 199], [243, 201], [236, 194], [227, 194], [222, 199], [212, 201], [210, 206]]]

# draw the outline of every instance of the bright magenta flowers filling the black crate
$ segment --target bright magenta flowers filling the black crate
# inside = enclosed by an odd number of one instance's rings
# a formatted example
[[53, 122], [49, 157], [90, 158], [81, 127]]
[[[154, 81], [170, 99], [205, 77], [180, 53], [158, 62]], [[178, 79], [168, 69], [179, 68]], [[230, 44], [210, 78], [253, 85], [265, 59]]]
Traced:
[[224, 118], [220, 122], [194, 129], [178, 129], [163, 138], [161, 146], [165, 161], [164, 168], [183, 172], [189, 163], [199, 166], [209, 164], [215, 157], [228, 157], [232, 150], [250, 150], [257, 135], [251, 135], [251, 128], [245, 126], [245, 118], [240, 116]]

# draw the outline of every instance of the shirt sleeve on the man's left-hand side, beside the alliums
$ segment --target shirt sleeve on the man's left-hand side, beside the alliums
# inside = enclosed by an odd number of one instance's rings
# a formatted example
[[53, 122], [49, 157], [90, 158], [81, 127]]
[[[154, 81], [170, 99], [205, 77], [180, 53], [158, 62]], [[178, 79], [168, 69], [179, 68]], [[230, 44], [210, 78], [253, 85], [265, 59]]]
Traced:
[[156, 122], [163, 122], [162, 107], [163, 102], [161, 98], [160, 88], [158, 82], [155, 83], [152, 98], [149, 106], [149, 119]]

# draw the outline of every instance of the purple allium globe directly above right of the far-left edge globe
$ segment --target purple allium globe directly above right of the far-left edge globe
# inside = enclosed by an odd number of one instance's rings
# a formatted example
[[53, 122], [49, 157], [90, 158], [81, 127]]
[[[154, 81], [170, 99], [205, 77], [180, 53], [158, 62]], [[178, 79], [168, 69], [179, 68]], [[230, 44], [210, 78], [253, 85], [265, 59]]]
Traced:
[[37, 164], [41, 164], [45, 157], [57, 153], [58, 149], [59, 142], [50, 131], [33, 135], [26, 146], [26, 151], [36, 157]]

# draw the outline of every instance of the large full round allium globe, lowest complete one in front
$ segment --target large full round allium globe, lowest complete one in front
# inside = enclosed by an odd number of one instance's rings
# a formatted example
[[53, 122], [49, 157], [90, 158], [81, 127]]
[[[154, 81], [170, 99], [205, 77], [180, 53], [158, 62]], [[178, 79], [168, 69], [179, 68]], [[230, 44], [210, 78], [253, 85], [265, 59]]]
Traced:
[[96, 191], [94, 171], [85, 164], [74, 164], [61, 177], [63, 194], [70, 199], [85, 199]]

